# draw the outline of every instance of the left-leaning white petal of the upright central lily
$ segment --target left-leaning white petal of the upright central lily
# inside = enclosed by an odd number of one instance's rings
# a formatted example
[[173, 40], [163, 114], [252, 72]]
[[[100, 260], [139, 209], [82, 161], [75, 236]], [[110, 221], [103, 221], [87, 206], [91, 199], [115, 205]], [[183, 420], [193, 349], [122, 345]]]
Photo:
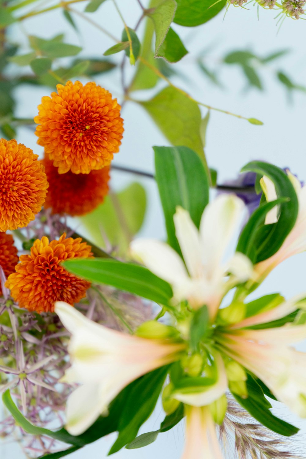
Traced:
[[153, 239], [136, 239], [130, 245], [130, 252], [152, 273], [172, 285], [189, 281], [183, 260], [168, 244]]

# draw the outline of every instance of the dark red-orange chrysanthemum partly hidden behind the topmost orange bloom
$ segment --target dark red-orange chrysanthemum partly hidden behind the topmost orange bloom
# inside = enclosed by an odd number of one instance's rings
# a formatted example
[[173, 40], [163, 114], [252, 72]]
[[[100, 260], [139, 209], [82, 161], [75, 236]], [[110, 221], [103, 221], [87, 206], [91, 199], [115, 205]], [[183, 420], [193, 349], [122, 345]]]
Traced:
[[84, 215], [101, 204], [108, 193], [109, 166], [89, 174], [68, 171], [60, 175], [47, 156], [42, 163], [49, 182], [45, 208], [51, 207], [52, 213]]

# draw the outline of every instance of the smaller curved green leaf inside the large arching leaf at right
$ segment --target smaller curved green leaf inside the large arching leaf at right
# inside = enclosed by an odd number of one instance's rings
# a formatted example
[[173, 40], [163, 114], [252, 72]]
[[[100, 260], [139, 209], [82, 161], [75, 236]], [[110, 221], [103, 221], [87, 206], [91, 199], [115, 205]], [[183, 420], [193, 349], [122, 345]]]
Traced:
[[286, 200], [284, 198], [277, 199], [275, 201], [266, 202], [258, 207], [252, 213], [240, 234], [236, 251], [244, 253], [250, 258], [252, 263], [256, 263], [257, 261], [259, 247], [256, 246], [256, 237], [258, 232], [264, 228], [266, 215], [271, 209], [273, 209], [273, 207], [281, 204], [282, 202], [286, 202]]

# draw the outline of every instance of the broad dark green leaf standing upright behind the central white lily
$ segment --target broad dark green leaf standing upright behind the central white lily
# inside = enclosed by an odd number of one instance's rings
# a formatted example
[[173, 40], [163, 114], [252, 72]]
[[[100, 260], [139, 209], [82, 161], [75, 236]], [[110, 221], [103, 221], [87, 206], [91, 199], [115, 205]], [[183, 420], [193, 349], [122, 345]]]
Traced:
[[184, 146], [153, 147], [156, 182], [166, 220], [168, 242], [181, 253], [175, 235], [173, 215], [176, 207], [187, 210], [197, 228], [209, 201], [208, 177], [198, 155]]

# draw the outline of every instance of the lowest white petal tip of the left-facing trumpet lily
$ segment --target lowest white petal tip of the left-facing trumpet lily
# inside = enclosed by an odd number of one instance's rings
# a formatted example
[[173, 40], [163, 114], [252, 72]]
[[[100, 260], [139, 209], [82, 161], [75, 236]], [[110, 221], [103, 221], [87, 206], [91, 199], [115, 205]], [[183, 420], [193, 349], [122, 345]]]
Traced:
[[99, 384], [84, 384], [68, 397], [66, 405], [66, 429], [71, 435], [86, 431], [101, 414], [98, 403]]

